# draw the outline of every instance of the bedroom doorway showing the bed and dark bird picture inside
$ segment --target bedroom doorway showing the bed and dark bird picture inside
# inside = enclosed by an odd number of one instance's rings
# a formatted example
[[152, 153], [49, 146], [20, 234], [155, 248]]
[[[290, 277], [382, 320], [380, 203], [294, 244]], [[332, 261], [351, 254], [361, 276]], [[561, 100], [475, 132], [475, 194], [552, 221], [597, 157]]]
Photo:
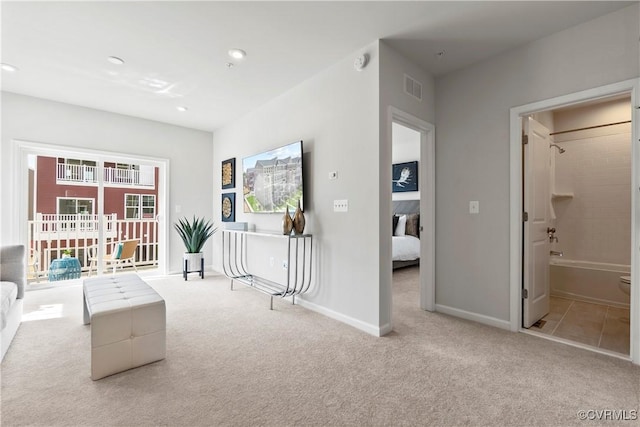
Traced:
[[393, 308], [435, 310], [433, 125], [391, 109]]

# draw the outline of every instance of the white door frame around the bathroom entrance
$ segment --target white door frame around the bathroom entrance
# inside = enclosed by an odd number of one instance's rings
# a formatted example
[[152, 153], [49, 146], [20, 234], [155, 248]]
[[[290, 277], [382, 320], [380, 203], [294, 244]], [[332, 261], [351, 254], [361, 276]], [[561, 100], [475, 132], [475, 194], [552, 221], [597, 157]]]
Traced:
[[513, 332], [525, 331], [522, 328], [522, 271], [523, 271], [523, 237], [522, 237], [522, 120], [536, 112], [566, 107], [598, 98], [622, 93], [631, 95], [631, 301], [630, 301], [630, 359], [640, 365], [640, 79], [630, 79], [618, 83], [587, 89], [555, 98], [533, 102], [509, 111], [509, 283], [510, 283], [510, 329]]

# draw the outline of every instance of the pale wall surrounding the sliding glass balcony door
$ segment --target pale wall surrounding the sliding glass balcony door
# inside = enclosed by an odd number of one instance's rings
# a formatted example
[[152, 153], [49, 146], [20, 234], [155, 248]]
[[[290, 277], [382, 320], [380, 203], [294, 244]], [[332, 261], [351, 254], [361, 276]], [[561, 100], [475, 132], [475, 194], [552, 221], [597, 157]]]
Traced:
[[[13, 140], [169, 159], [169, 221], [173, 223], [183, 215], [212, 215], [211, 139], [208, 132], [2, 92], [0, 241], [22, 241], [16, 232], [15, 210], [7, 208], [16, 199]], [[175, 213], [175, 205], [182, 206], [182, 213]], [[184, 248], [173, 229], [168, 250], [168, 270], [182, 271]], [[209, 244], [207, 264], [211, 255]]]

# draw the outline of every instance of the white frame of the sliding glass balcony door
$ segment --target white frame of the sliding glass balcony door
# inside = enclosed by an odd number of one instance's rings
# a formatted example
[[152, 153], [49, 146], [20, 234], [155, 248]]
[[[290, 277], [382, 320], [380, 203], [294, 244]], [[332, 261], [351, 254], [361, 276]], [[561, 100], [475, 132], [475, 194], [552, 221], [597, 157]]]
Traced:
[[[60, 157], [60, 155], [64, 156], [88, 156], [91, 159], [95, 158], [98, 161], [100, 167], [104, 164], [104, 161], [112, 161], [112, 160], [122, 160], [124, 162], [131, 161], [135, 163], [143, 163], [147, 165], [152, 165], [154, 167], [159, 168], [158, 173], [158, 212], [156, 212], [156, 216], [161, 219], [160, 224], [158, 225], [158, 241], [164, 242], [164, 244], [158, 245], [158, 273], [160, 275], [165, 275], [168, 269], [168, 237], [169, 237], [169, 224], [165, 218], [168, 218], [169, 211], [169, 160], [158, 158], [158, 157], [149, 157], [149, 156], [138, 156], [134, 154], [126, 154], [126, 153], [117, 153], [110, 151], [102, 151], [102, 150], [93, 150], [88, 148], [81, 147], [71, 147], [65, 145], [57, 145], [57, 144], [47, 144], [41, 142], [27, 141], [21, 139], [13, 139], [13, 152], [14, 152], [14, 162], [13, 162], [13, 179], [16, 184], [16, 188], [19, 191], [15, 191], [13, 203], [18, 207], [17, 209], [17, 217], [14, 222], [17, 224], [17, 232], [18, 232], [18, 241], [24, 244], [25, 246], [29, 245], [28, 240], [28, 198], [29, 198], [29, 179], [28, 173], [28, 155], [39, 155], [39, 156], [51, 156], [51, 157]], [[102, 207], [104, 206], [104, 193], [103, 193], [103, 182], [100, 179], [98, 185], [98, 200], [96, 213], [98, 214], [99, 224], [102, 225]], [[102, 227], [100, 227], [102, 229]], [[101, 233], [101, 231], [100, 231]], [[102, 247], [98, 248], [99, 257], [102, 254]], [[100, 267], [101, 263], [99, 263]], [[100, 268], [99, 268], [100, 270]], [[99, 271], [98, 270], [98, 271]]]

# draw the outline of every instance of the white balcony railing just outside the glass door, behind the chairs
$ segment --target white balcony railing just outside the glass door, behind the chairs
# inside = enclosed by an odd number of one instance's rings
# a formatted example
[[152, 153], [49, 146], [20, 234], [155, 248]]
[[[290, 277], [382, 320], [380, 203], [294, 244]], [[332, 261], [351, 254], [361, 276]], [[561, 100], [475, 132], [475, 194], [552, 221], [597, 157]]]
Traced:
[[[98, 215], [36, 214], [29, 221], [29, 245], [37, 257], [36, 274], [46, 279], [51, 261], [62, 257], [65, 249], [80, 260], [82, 271], [89, 269], [89, 247], [99, 244]], [[136, 266], [158, 264], [158, 223], [155, 219], [122, 220], [116, 214], [103, 216], [105, 253], [111, 243], [138, 239]], [[29, 269], [30, 282], [33, 268]]]

